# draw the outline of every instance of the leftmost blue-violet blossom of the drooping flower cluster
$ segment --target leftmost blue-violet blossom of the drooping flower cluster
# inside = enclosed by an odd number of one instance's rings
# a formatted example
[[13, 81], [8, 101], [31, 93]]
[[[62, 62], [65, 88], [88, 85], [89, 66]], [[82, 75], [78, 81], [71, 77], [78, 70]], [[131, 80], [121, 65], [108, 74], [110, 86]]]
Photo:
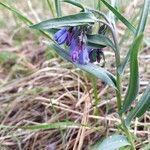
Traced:
[[54, 40], [59, 44], [64, 44], [68, 35], [68, 30], [66, 27], [60, 29], [54, 34]]

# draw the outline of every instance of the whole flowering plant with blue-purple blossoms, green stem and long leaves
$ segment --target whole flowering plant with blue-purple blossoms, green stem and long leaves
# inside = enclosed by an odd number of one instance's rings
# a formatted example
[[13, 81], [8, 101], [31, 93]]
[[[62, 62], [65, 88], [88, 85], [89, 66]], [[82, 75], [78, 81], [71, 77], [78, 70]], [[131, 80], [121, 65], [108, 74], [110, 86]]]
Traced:
[[[121, 120], [120, 129], [126, 137], [123, 135], [113, 135], [111, 138], [108, 137], [98, 146], [98, 149], [105, 149], [105, 146], [109, 143], [111, 145], [111, 148], [109, 149], [111, 150], [127, 145], [130, 146], [132, 150], [135, 150], [134, 139], [129, 130], [130, 124], [132, 119], [142, 116], [149, 108], [150, 85], [148, 85], [135, 108], [131, 111], [128, 110], [132, 102], [136, 99], [139, 91], [138, 52], [143, 41], [143, 32], [150, 1], [145, 0], [141, 18], [136, 29], [109, 3], [105, 0], [101, 0], [101, 2], [108, 7], [108, 9], [124, 23], [135, 36], [131, 48], [124, 60], [121, 60], [120, 58], [120, 48], [116, 36], [115, 23], [111, 21], [106, 14], [96, 9], [85, 7], [81, 3], [73, 0], [64, 0], [64, 2], [80, 7], [81, 11], [78, 14], [62, 17], [60, 3], [57, 1], [56, 8], [58, 8], [58, 18], [46, 20], [31, 27], [46, 31], [50, 35], [53, 34], [54, 43], [48, 45], [60, 56], [72, 62], [80, 69], [100, 78], [106, 84], [114, 88], [117, 98], [118, 114]], [[99, 23], [99, 29], [94, 33], [92, 29], [96, 23]], [[107, 31], [111, 32], [111, 37], [110, 34], [106, 34]], [[60, 47], [59, 45], [64, 46]], [[115, 53], [116, 76], [99, 65], [93, 64], [93, 62], [100, 62], [102, 58], [105, 58], [103, 48], [108, 46], [111, 47]], [[130, 63], [130, 80], [126, 95], [124, 99], [122, 99], [121, 78], [126, 64], [128, 63]], [[126, 113], [127, 111], [128, 113]], [[114, 144], [115, 142], [118, 142], [118, 145]]]

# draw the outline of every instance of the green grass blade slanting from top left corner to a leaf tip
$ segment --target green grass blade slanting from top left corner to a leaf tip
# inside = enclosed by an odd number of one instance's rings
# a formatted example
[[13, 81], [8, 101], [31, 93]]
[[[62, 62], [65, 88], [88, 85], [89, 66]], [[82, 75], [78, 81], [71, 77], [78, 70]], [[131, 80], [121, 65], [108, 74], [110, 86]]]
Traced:
[[33, 24], [33, 22], [30, 19], [28, 19], [26, 16], [24, 16], [21, 12], [19, 12], [18, 10], [16, 10], [12, 6], [4, 4], [3, 2], [0, 2], [0, 5], [2, 5], [6, 9], [10, 10], [12, 13], [14, 13], [15, 15], [17, 15], [26, 24], [28, 24], [28, 25], [32, 25]]

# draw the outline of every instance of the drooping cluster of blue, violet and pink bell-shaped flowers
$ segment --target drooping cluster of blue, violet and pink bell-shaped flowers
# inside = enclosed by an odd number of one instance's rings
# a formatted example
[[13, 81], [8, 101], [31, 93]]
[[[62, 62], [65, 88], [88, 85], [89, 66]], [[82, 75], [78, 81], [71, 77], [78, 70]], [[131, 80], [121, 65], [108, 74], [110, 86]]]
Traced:
[[54, 40], [59, 45], [66, 43], [69, 47], [72, 61], [82, 65], [88, 62], [100, 62], [101, 59], [101, 49], [94, 50], [87, 47], [86, 33], [88, 30], [88, 27], [63, 27], [54, 34]]

